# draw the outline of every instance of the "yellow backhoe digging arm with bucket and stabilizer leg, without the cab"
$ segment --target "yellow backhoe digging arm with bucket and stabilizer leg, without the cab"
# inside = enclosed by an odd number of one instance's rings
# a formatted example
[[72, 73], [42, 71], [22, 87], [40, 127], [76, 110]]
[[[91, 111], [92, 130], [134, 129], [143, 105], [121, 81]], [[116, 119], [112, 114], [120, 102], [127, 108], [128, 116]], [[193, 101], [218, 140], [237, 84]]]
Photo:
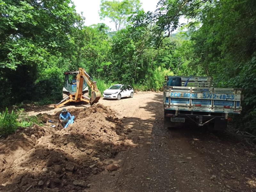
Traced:
[[[86, 81], [87, 85], [91, 88], [91, 98], [83, 95], [83, 83]], [[61, 107], [68, 102], [79, 102], [85, 101], [93, 105], [97, 103], [100, 99], [100, 91], [97, 88], [96, 81], [86, 73], [83, 68], [79, 68], [79, 73], [76, 75], [76, 93], [70, 94], [67, 98], [61, 100], [58, 104], [54, 105], [55, 108]]]

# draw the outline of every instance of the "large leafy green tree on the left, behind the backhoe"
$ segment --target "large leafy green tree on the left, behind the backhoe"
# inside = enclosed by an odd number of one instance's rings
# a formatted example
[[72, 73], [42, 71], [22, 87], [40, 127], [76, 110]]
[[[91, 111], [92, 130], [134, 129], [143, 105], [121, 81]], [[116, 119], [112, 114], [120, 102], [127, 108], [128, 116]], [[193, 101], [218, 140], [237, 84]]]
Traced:
[[70, 38], [83, 18], [70, 0], [0, 0], [0, 11], [0, 99], [5, 105], [32, 98], [34, 82], [52, 67], [52, 58], [71, 57]]

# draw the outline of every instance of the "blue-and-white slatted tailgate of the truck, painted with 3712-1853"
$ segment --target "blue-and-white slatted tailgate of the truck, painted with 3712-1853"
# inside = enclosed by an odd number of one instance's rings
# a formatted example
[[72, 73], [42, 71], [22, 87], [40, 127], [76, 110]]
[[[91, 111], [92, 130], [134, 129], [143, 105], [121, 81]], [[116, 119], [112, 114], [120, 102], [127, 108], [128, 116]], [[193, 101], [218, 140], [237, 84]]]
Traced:
[[[240, 114], [241, 89], [164, 86], [164, 109]], [[211, 115], [211, 114], [209, 114]]]

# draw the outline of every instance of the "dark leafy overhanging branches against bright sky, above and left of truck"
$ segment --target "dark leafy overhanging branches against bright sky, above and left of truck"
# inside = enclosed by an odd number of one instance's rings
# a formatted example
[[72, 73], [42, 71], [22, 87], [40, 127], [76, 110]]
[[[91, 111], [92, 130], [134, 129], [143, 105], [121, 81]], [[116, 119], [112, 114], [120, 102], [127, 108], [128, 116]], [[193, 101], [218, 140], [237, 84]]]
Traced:
[[140, 12], [131, 17], [134, 27], [144, 26], [150, 28], [151, 44], [159, 47], [164, 38], [171, 36], [172, 32], [184, 25], [179, 20], [182, 16], [194, 18], [198, 16], [200, 8], [211, 0], [159, 0], [155, 12]]

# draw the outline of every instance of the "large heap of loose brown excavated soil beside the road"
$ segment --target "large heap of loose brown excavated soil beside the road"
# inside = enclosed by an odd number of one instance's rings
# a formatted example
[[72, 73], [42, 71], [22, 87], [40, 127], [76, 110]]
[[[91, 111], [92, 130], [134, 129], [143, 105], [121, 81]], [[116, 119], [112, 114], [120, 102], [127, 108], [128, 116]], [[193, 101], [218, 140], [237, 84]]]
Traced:
[[0, 141], [0, 191], [83, 191], [87, 178], [127, 146], [122, 121], [110, 108], [69, 111], [76, 119], [66, 129], [34, 126]]

